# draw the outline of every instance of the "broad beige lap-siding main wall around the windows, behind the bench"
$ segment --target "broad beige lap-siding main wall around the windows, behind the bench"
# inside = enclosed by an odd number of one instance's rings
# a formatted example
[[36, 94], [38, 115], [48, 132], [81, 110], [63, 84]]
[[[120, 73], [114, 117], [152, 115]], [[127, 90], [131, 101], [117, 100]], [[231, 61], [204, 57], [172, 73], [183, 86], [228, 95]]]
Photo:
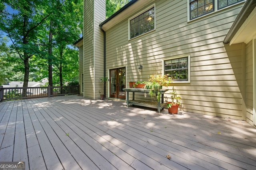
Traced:
[[[187, 0], [155, 3], [156, 30], [128, 41], [133, 15], [108, 29], [107, 68], [127, 66], [127, 82], [146, 81], [148, 75], [162, 74], [164, 59], [190, 55], [191, 82], [172, 84], [182, 98], [180, 109], [242, 119], [243, 45], [223, 44], [242, 4], [187, 22]], [[138, 98], [151, 100], [143, 94]]]

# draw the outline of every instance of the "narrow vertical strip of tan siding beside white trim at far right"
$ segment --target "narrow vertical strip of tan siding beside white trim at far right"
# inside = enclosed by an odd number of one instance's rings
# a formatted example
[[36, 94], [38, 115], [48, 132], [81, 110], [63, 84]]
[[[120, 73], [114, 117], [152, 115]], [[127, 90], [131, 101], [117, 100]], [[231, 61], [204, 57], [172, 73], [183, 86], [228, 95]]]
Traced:
[[246, 121], [253, 125], [252, 41], [246, 44]]

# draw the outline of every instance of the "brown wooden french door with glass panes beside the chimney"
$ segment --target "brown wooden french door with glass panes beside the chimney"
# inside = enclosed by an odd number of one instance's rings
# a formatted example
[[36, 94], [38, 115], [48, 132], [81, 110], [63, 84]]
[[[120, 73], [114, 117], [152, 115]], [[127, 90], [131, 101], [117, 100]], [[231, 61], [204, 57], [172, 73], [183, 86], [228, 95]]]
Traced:
[[125, 99], [126, 78], [125, 67], [110, 70], [110, 97]]

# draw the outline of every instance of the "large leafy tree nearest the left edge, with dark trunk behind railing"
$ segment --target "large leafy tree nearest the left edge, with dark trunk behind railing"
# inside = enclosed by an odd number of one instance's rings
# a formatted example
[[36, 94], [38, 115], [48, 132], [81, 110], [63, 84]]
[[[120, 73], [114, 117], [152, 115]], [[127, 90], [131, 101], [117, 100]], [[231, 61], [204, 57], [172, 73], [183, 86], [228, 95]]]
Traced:
[[[8, 34], [12, 41], [11, 48], [16, 51], [20, 59], [24, 63], [24, 84], [28, 86], [29, 79], [29, 59], [36, 55], [40, 55], [41, 51], [38, 48], [37, 31], [42, 28], [42, 23], [45, 22], [59, 6], [52, 8], [52, 11], [44, 10], [49, 4], [48, 0], [1, 0], [12, 11], [6, 8], [2, 10], [2, 20], [0, 21], [0, 29]], [[2, 7], [1, 7], [2, 8]], [[26, 90], [23, 93], [26, 96]]]

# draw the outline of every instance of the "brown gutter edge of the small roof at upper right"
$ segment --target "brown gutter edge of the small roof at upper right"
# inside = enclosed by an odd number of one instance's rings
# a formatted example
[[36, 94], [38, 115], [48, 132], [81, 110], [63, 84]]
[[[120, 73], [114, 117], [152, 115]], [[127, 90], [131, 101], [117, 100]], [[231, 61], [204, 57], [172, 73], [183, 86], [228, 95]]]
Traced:
[[225, 43], [225, 44], [230, 43], [232, 38], [236, 35], [237, 31], [243, 25], [246, 18], [248, 18], [248, 16], [254, 10], [255, 6], [256, 6], [256, 0], [246, 0], [246, 2], [244, 3], [244, 6], [242, 7], [241, 11], [239, 12], [238, 16], [236, 17], [236, 20], [234, 21], [234, 23], [230, 27], [226, 37], [224, 38], [223, 43]]

